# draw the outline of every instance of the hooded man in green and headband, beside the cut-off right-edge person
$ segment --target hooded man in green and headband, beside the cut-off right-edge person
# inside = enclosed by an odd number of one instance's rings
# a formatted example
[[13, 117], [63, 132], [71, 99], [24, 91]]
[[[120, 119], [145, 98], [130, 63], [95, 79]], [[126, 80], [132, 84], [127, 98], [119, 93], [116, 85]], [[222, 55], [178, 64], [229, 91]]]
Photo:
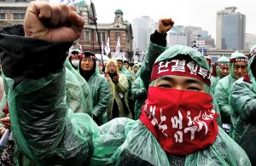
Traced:
[[214, 91], [214, 98], [218, 103], [224, 129], [229, 133], [232, 128], [230, 121], [229, 95], [233, 83], [247, 74], [247, 56], [238, 51], [230, 56], [230, 74], [220, 79]]

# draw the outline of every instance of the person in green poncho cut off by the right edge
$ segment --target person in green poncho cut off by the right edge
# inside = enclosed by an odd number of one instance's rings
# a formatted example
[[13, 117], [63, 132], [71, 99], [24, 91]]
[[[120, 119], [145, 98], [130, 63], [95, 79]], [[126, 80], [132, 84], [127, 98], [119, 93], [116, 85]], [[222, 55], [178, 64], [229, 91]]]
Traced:
[[247, 152], [256, 165], [256, 45], [249, 54], [248, 75], [241, 77], [230, 92], [231, 120], [234, 129], [230, 136]]

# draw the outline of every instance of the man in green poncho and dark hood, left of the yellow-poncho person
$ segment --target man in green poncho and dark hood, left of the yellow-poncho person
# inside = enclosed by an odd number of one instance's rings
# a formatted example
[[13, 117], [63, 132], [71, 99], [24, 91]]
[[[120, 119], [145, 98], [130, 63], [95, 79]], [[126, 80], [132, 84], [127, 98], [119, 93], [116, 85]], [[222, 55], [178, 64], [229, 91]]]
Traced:
[[79, 60], [79, 73], [90, 87], [93, 102], [93, 120], [102, 125], [103, 115], [107, 112], [110, 101], [110, 90], [106, 77], [100, 74], [97, 58], [90, 51], [84, 51]]

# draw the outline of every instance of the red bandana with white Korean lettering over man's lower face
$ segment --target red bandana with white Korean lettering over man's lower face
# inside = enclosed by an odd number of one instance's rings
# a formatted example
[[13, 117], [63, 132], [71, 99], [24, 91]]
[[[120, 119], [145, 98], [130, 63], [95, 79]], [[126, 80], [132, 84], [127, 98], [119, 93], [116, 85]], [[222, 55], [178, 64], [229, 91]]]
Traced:
[[218, 135], [211, 102], [211, 95], [201, 92], [149, 87], [140, 120], [166, 152], [188, 155], [210, 146]]

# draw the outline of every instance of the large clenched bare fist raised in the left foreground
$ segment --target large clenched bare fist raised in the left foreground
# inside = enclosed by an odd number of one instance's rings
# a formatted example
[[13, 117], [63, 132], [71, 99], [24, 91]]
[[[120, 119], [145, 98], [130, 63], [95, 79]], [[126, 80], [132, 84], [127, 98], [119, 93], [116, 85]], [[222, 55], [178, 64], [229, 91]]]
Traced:
[[73, 42], [80, 37], [83, 27], [84, 20], [73, 5], [32, 1], [26, 9], [25, 37]]

